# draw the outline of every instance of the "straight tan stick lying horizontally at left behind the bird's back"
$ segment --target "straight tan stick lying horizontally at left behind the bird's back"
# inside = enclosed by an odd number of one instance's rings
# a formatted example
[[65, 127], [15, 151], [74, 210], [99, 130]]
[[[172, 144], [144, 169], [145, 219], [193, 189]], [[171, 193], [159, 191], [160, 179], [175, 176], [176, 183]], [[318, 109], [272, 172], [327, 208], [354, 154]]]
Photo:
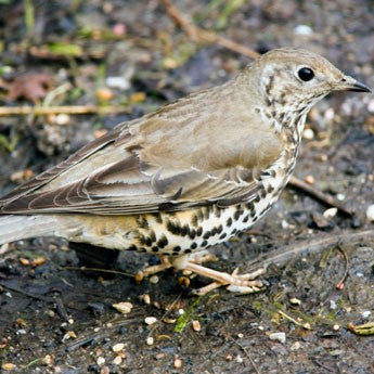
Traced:
[[98, 105], [74, 105], [74, 106], [0, 106], [0, 116], [46, 116], [51, 114], [117, 114], [128, 113], [126, 106], [98, 106]]

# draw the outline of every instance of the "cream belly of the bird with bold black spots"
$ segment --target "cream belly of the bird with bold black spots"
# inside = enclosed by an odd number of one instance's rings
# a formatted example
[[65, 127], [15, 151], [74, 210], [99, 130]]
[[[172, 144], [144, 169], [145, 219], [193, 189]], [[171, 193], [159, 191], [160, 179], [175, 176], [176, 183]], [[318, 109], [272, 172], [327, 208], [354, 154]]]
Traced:
[[238, 205], [209, 205], [177, 212], [138, 216], [75, 216], [74, 233], [61, 235], [111, 249], [181, 256], [206, 249], [249, 229], [274, 204], [280, 185], [261, 184], [255, 198]]

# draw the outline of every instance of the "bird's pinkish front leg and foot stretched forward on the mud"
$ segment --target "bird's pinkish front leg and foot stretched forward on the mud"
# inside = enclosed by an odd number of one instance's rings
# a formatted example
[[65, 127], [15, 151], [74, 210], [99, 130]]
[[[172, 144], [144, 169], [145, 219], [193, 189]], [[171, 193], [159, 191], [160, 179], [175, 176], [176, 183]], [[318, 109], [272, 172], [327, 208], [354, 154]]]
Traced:
[[207, 286], [196, 289], [194, 293], [197, 295], [204, 295], [208, 292], [227, 285], [227, 289], [234, 293], [250, 294], [261, 289], [263, 286], [261, 281], [255, 279], [265, 273], [265, 269], [259, 269], [249, 274], [237, 274], [238, 269], [235, 269], [232, 274], [220, 272], [214, 269], [205, 268], [202, 265], [194, 263], [190, 260], [190, 257], [181, 256], [171, 260], [172, 266], [179, 270], [189, 270], [196, 274], [210, 278], [215, 282]]

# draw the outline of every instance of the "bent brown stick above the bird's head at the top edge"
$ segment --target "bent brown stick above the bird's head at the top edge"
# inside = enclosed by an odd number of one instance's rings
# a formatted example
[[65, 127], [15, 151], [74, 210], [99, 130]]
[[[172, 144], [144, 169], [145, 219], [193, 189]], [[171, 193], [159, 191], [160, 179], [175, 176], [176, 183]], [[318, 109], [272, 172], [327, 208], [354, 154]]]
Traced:
[[231, 51], [246, 55], [249, 59], [257, 59], [260, 55], [253, 49], [237, 43], [236, 41], [227, 39], [212, 31], [197, 27], [191, 20], [180, 13], [177, 7], [172, 4], [171, 0], [163, 0], [163, 3], [169, 16], [178, 26], [180, 26], [180, 28], [190, 37], [192, 41], [209, 44], [216, 43]]

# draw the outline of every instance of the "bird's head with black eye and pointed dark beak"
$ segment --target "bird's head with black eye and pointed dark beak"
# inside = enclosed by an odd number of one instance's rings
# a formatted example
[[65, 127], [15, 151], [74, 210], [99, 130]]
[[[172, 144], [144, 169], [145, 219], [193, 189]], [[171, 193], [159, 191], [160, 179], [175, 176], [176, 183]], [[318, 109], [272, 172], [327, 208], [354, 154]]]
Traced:
[[273, 50], [256, 60], [250, 68], [259, 77], [265, 103], [278, 111], [308, 111], [332, 91], [371, 92], [326, 59], [300, 49]]

